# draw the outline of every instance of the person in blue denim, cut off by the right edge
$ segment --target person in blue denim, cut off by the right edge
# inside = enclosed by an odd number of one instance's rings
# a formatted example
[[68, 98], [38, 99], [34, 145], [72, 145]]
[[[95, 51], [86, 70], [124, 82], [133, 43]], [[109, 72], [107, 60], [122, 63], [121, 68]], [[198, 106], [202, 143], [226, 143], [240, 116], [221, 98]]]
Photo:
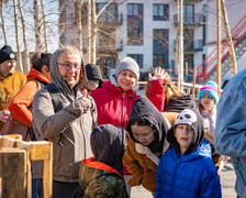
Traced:
[[246, 197], [246, 69], [221, 95], [214, 138], [216, 152], [232, 157], [237, 195]]

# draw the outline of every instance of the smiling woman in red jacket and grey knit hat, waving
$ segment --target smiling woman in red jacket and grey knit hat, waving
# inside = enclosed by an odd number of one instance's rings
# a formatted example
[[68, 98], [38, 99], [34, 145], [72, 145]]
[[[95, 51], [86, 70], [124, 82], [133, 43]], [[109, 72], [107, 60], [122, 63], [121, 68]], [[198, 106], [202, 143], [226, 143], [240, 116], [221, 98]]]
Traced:
[[[159, 111], [164, 109], [164, 73], [158, 67], [149, 74], [148, 99]], [[125, 57], [110, 80], [103, 82], [102, 88], [90, 92], [97, 105], [99, 125], [111, 123], [125, 129], [132, 105], [139, 97], [136, 94], [138, 79], [139, 66], [133, 58]]]

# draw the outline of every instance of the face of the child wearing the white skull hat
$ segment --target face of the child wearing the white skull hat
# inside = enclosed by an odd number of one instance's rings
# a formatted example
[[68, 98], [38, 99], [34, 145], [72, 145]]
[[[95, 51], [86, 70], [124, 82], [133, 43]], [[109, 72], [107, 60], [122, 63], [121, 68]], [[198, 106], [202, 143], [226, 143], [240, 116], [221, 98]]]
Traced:
[[178, 124], [175, 128], [175, 138], [180, 145], [181, 153], [185, 153], [190, 146], [194, 136], [194, 131], [190, 125]]

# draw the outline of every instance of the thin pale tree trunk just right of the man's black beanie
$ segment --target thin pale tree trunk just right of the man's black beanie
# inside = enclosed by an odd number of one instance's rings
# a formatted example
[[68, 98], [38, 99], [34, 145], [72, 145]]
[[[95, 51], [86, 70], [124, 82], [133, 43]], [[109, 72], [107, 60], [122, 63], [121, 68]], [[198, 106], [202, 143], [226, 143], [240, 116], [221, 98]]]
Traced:
[[18, 67], [19, 67], [19, 70], [23, 73], [22, 56], [21, 56], [21, 50], [19, 44], [18, 9], [16, 9], [15, 0], [13, 0], [13, 11], [14, 11], [13, 13], [14, 13], [15, 41], [16, 41], [16, 48], [18, 48]]

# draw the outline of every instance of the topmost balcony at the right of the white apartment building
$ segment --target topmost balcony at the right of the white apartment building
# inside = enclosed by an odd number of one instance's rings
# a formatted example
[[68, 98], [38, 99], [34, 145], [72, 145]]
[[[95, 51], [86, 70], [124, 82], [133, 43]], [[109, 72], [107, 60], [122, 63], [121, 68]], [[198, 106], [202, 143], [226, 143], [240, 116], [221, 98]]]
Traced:
[[[175, 25], [178, 25], [178, 14], [174, 15]], [[203, 25], [205, 22], [205, 16], [201, 13], [191, 13], [183, 15], [183, 26], [199, 26]]]

